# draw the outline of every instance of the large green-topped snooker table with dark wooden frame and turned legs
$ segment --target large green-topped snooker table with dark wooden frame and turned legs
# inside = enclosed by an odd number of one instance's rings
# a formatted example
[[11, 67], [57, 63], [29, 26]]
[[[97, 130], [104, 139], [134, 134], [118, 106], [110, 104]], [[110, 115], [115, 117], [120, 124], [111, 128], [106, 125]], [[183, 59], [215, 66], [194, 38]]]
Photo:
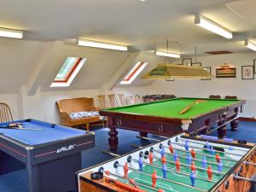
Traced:
[[[203, 102], [195, 104], [186, 113], [179, 114], [196, 100]], [[108, 144], [115, 150], [118, 147], [117, 128], [139, 131], [142, 137], [147, 137], [148, 133], [171, 137], [183, 131], [208, 131], [212, 125], [218, 123], [218, 137], [226, 137], [227, 121], [234, 119], [230, 122], [231, 129], [238, 129], [236, 117], [243, 104], [244, 100], [181, 97], [108, 108], [101, 110], [100, 114], [108, 117]]]

